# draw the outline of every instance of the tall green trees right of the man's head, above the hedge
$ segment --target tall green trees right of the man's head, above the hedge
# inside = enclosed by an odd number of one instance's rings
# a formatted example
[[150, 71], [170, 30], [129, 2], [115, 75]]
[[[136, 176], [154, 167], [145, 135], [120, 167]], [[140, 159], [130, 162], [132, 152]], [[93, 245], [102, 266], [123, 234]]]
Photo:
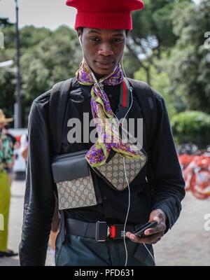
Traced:
[[[178, 112], [210, 113], [210, 50], [204, 47], [204, 34], [210, 31], [210, 2], [145, 3], [146, 8], [133, 16], [130, 52], [140, 60], [134, 77], [158, 88], [168, 106]], [[159, 86], [159, 81], [165, 85]], [[169, 115], [173, 114], [169, 108]]]

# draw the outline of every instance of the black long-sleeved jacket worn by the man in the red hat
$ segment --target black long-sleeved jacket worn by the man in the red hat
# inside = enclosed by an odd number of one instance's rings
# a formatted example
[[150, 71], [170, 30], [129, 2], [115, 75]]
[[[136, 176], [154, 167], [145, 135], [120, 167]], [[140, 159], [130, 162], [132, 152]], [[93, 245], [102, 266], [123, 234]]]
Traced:
[[[70, 118], [83, 120], [83, 113], [89, 113], [90, 88], [83, 90], [74, 80], [64, 118], [62, 153], [89, 149], [92, 143], [69, 144], [66, 135]], [[114, 113], [120, 97], [119, 86], [104, 86]], [[153, 90], [158, 109], [158, 124], [153, 144], [148, 148], [144, 121], [144, 151], [148, 155], [147, 165], [130, 184], [131, 207], [128, 223], [145, 223], [153, 209], [162, 209], [167, 215], [167, 230], [172, 228], [181, 212], [181, 200], [185, 196], [183, 176], [176, 155], [169, 117], [162, 96]], [[34, 100], [29, 114], [29, 158], [25, 191], [22, 240], [20, 243], [20, 265], [44, 265], [48, 239], [55, 209], [55, 183], [52, 179], [52, 138], [49, 125], [50, 91]], [[143, 118], [141, 107], [135, 98], [129, 118]], [[90, 127], [90, 132], [94, 127]], [[124, 223], [127, 214], [127, 189], [120, 193], [106, 186], [100, 179], [102, 204], [94, 207], [65, 210], [65, 216], [82, 221]], [[167, 232], [166, 230], [166, 232]]]

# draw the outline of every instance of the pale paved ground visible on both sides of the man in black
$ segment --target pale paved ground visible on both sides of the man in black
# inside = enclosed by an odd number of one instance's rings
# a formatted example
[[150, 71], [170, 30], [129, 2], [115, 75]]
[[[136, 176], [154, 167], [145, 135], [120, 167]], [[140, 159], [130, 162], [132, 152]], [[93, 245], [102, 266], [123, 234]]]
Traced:
[[[25, 182], [15, 181], [12, 186], [10, 208], [10, 234], [8, 247], [18, 251], [22, 227], [23, 196]], [[204, 215], [210, 214], [210, 199], [197, 200], [187, 193], [179, 221], [162, 240], [155, 245], [157, 265], [210, 265], [210, 231], [204, 230]], [[48, 252], [46, 265], [52, 257]], [[18, 266], [17, 258], [0, 259], [0, 266]]]

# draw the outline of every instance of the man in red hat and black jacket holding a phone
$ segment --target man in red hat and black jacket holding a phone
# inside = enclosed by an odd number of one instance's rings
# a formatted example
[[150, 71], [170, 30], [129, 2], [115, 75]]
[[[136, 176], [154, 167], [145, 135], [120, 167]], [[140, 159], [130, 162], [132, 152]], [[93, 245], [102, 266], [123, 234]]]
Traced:
[[[83, 48], [83, 62], [73, 79], [62, 120], [64, 129], [61, 154], [87, 149], [85, 158], [92, 167], [106, 165], [111, 151], [125, 154], [127, 158], [139, 159], [140, 152], [130, 144], [123, 144], [120, 139], [118, 146], [112, 141], [107, 144], [99, 140], [95, 144], [70, 144], [67, 134], [68, 120], [78, 118], [83, 122], [83, 113], [88, 113], [89, 120], [91, 116], [104, 120], [105, 114], [106, 119], [107, 116], [111, 118], [115, 115], [120, 90], [125, 82], [119, 63], [125, 49], [127, 31], [132, 29], [131, 11], [141, 10], [144, 3], [141, 0], [113, 0], [111, 5], [107, 5], [107, 1], [102, 0], [68, 0], [66, 4], [78, 9], [75, 29]], [[126, 88], [130, 89], [124, 83], [123, 89]], [[179, 218], [185, 183], [174, 148], [165, 102], [158, 92], [151, 91], [155, 102], [153, 105], [157, 108], [157, 126], [152, 143], [150, 137], [146, 137], [145, 125], [148, 120], [142, 116], [141, 109], [144, 108], [139, 106], [139, 93], [135, 88], [128, 112], [129, 118], [144, 118], [143, 150], [148, 155], [148, 162], [130, 183], [131, 205], [128, 217], [128, 188], [116, 191], [110, 188], [106, 180], [97, 176], [102, 197], [97, 205], [60, 211], [64, 226], [61, 226], [57, 237], [56, 265], [154, 265], [152, 244], [158, 242]], [[56, 186], [50, 169], [54, 154], [48, 120], [49, 100], [50, 91], [38, 97], [29, 116], [29, 162], [20, 244], [21, 265], [45, 264], [55, 209]], [[114, 130], [105, 132], [110, 137], [116, 136]], [[126, 217], [125, 237], [122, 235], [122, 227]], [[105, 232], [112, 229], [104, 242], [95, 236], [96, 231], [100, 232], [98, 225], [102, 225], [98, 221], [106, 222], [103, 224], [106, 225]], [[131, 233], [137, 225], [147, 221], [158, 222], [155, 228], [145, 232], [148, 237], [140, 238]], [[118, 229], [121, 229], [121, 235], [115, 238], [113, 230]]]

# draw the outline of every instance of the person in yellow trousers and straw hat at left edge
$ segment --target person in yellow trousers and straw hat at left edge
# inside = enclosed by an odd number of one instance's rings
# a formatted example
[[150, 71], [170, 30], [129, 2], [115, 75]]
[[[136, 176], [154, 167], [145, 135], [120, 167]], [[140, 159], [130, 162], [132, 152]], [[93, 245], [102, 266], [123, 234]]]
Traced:
[[3, 230], [0, 230], [0, 258], [18, 255], [8, 250], [8, 218], [10, 211], [10, 180], [7, 170], [13, 167], [13, 140], [5, 133], [3, 127], [12, 122], [0, 109], [0, 214], [3, 215]]

